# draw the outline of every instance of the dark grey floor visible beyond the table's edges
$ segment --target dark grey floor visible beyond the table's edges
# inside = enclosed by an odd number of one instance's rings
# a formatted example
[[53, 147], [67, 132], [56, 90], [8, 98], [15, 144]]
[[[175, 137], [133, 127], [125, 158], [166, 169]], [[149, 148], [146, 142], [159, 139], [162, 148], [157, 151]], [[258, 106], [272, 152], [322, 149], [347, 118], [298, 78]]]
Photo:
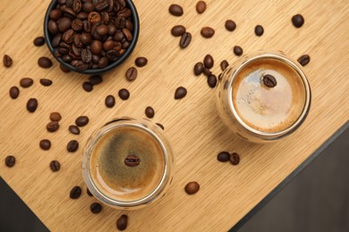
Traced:
[[[2, 178], [0, 231], [48, 231]], [[238, 231], [348, 232], [348, 127]]]

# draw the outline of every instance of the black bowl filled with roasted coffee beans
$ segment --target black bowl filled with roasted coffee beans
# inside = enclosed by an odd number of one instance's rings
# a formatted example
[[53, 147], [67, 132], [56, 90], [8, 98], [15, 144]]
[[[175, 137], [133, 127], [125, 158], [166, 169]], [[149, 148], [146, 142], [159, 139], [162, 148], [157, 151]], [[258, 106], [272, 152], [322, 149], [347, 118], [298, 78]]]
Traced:
[[53, 0], [44, 33], [50, 52], [66, 69], [101, 74], [132, 53], [140, 21], [132, 0]]

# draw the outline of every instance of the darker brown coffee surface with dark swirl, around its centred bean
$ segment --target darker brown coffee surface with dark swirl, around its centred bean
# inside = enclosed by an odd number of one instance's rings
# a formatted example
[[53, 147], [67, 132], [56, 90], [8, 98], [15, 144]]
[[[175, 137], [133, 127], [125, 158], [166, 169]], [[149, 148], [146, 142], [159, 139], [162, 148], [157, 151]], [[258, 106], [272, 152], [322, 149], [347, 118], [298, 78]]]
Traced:
[[[127, 166], [124, 161], [128, 155], [136, 155], [140, 164]], [[132, 202], [157, 188], [165, 165], [163, 150], [155, 137], [141, 128], [123, 126], [109, 130], [98, 140], [89, 169], [100, 192], [120, 202]]]

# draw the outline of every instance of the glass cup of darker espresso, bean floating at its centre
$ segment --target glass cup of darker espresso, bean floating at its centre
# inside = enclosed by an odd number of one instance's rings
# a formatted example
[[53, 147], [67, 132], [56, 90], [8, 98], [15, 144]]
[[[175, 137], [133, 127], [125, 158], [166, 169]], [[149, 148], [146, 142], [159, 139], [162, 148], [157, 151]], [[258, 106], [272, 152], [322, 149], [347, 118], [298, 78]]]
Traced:
[[165, 195], [174, 155], [162, 128], [129, 117], [109, 121], [87, 142], [82, 175], [100, 202], [120, 210], [140, 209]]

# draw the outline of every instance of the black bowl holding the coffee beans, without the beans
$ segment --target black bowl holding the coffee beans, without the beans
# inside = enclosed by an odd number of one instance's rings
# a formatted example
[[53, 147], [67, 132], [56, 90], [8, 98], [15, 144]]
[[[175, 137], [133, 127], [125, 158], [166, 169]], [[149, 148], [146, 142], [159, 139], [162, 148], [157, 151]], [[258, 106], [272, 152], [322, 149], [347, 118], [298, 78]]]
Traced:
[[[49, 4], [49, 6], [48, 6], [48, 9], [47, 9], [47, 12], [46, 12], [46, 15], [45, 15], [45, 21], [44, 21], [44, 34], [45, 34], [46, 43], [47, 43], [48, 49], [50, 50], [51, 54], [54, 55], [54, 57], [55, 57], [54, 47], [51, 45], [51, 41], [52, 41], [53, 35], [48, 31], [47, 24], [48, 24], [48, 21], [49, 21], [49, 13], [53, 9], [55, 9], [57, 4], [58, 4], [57, 0], [52, 0], [51, 4]], [[60, 62], [68, 70], [76, 71], [76, 72], [79, 72], [79, 73], [82, 73], [82, 74], [87, 74], [87, 75], [101, 74], [101, 73], [104, 73], [106, 71], [113, 70], [117, 66], [119, 66], [121, 63], [123, 63], [127, 59], [127, 57], [130, 54], [132, 54], [132, 51], [133, 51], [134, 47], [137, 44], [138, 36], [140, 34], [140, 19], [138, 17], [138, 13], [137, 13], [136, 7], [132, 3], [132, 0], [126, 0], [126, 4], [127, 4], [127, 7], [132, 12], [131, 19], [132, 19], [132, 23], [133, 23], [133, 31], [132, 31], [133, 38], [132, 38], [132, 41], [130, 43], [130, 46], [127, 48], [127, 50], [124, 52], [124, 54], [122, 56], [120, 56], [120, 58], [116, 62], [110, 63], [108, 66], [106, 66], [106, 68], [103, 68], [103, 69], [78, 70], [75, 67], [73, 67], [70, 63], [64, 62], [62, 60], [62, 58], [55, 57], [55, 59], [58, 62]]]

